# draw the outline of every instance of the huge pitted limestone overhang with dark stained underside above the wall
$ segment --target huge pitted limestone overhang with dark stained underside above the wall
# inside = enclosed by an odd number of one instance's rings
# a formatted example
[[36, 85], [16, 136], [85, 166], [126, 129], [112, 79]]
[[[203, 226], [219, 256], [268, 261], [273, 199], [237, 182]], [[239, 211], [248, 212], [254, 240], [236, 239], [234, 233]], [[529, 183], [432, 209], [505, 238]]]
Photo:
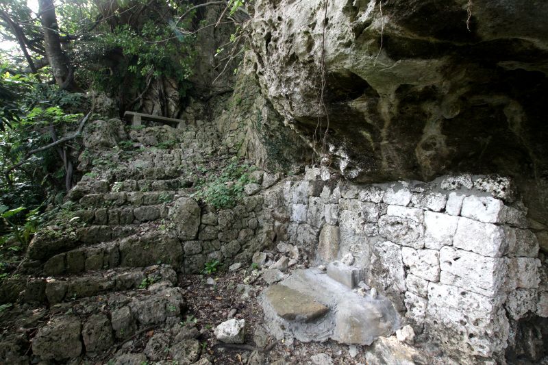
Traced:
[[328, 131], [345, 177], [510, 175], [547, 223], [547, 15], [525, 0], [257, 0], [251, 47], [262, 92], [308, 140]]

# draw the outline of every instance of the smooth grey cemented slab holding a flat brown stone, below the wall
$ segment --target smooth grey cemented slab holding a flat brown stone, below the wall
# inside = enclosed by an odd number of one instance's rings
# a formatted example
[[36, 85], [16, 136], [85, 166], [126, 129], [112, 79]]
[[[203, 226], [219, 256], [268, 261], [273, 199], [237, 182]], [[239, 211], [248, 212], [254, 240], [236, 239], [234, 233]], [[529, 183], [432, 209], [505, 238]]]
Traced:
[[386, 297], [351, 290], [318, 268], [295, 270], [264, 290], [259, 301], [265, 323], [277, 339], [302, 342], [331, 338], [369, 345], [401, 327], [399, 314]]

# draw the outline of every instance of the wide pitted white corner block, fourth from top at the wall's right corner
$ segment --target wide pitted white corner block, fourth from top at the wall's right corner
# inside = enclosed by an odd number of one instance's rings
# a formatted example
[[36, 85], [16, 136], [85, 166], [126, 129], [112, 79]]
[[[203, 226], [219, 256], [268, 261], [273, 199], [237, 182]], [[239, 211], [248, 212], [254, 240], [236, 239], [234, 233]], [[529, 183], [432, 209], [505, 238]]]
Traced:
[[512, 275], [504, 257], [486, 257], [453, 247], [440, 249], [440, 268], [440, 283], [486, 296], [501, 292], [506, 277]]

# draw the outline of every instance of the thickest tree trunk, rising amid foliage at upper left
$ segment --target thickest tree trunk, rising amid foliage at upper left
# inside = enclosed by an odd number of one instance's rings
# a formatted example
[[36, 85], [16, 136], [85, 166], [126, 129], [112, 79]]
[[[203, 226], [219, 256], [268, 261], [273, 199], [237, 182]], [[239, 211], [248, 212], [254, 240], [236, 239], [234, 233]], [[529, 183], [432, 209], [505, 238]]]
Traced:
[[55, 81], [60, 88], [75, 90], [76, 87], [73, 83], [73, 73], [71, 72], [69, 59], [66, 58], [66, 55], [61, 49], [59, 27], [53, 0], [38, 0], [38, 4], [40, 7], [40, 14], [42, 15], [41, 21], [42, 29], [44, 31], [44, 46], [53, 77], [55, 77]]

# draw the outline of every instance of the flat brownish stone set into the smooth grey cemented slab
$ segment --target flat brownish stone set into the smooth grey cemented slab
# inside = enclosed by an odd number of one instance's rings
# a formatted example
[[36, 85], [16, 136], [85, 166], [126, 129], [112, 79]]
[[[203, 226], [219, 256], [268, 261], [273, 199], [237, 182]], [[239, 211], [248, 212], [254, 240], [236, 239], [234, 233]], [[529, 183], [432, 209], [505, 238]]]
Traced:
[[265, 292], [277, 315], [286, 320], [308, 323], [324, 316], [329, 308], [310, 295], [303, 294], [288, 286], [276, 284]]

